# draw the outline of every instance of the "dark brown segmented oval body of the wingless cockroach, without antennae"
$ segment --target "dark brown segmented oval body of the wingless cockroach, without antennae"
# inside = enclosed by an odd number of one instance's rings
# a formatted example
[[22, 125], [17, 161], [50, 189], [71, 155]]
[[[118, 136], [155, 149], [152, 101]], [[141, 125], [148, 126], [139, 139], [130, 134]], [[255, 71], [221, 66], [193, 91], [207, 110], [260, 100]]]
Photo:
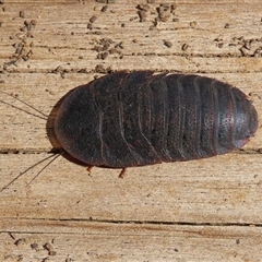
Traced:
[[257, 128], [257, 111], [240, 90], [152, 71], [120, 71], [76, 87], [55, 120], [70, 155], [121, 168], [224, 154], [243, 146]]

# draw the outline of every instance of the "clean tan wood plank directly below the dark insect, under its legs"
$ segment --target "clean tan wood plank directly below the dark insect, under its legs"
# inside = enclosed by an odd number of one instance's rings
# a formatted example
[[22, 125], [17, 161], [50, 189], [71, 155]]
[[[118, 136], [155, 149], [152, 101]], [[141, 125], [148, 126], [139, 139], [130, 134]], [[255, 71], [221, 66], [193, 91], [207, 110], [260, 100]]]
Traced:
[[[0, 155], [1, 187], [46, 157]], [[159, 223], [261, 224], [261, 156], [229, 154], [211, 159], [119, 170], [85, 168], [63, 158], [26, 184], [40, 167], [1, 192], [2, 217]], [[43, 167], [43, 165], [41, 165]]]

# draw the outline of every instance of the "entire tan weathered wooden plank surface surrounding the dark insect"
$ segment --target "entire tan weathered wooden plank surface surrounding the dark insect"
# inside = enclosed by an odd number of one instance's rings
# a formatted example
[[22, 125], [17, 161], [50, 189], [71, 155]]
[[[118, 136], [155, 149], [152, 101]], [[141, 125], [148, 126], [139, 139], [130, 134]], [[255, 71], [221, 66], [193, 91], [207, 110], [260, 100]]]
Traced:
[[[241, 88], [261, 120], [262, 3], [177, 1], [160, 16], [160, 2], [140, 22], [142, 1], [5, 0], [0, 91], [48, 116], [68, 91], [110, 70], [199, 73]], [[46, 120], [3, 93], [0, 99], [3, 188], [52, 145]], [[61, 156], [27, 186], [39, 164], [0, 193], [0, 260], [261, 261], [261, 144], [259, 126], [241, 151], [129, 168], [123, 179], [117, 169], [88, 175]]]

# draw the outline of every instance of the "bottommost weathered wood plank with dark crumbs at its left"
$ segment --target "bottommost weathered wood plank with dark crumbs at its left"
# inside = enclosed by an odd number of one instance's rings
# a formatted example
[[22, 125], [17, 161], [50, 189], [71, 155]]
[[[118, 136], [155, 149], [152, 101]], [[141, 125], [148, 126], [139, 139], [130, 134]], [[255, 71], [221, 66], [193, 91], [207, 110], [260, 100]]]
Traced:
[[[9, 221], [1, 223], [9, 228]], [[260, 261], [261, 234], [261, 228], [257, 227], [112, 225], [82, 221], [29, 223], [21, 219], [11, 236], [8, 231], [0, 235], [0, 245], [5, 247], [0, 259], [255, 262]], [[52, 255], [43, 247], [46, 243], [49, 243]]]

